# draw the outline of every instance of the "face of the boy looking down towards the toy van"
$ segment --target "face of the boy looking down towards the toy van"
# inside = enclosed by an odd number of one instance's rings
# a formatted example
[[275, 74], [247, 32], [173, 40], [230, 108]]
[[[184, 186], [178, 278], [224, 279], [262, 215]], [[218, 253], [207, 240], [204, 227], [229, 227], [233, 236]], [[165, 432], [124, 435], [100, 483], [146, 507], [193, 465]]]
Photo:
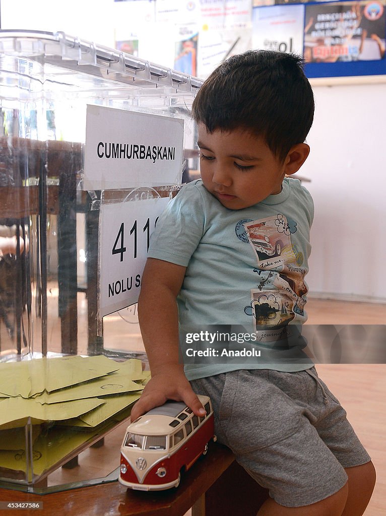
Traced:
[[202, 182], [223, 206], [247, 208], [281, 192], [286, 160], [281, 163], [264, 138], [241, 128], [211, 134], [199, 124], [198, 146]]

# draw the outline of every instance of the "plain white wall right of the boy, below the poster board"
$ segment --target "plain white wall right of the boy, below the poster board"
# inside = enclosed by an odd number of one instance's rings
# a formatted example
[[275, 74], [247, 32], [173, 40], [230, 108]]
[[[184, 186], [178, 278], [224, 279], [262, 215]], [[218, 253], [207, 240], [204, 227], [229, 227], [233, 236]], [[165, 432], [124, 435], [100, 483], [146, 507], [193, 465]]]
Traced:
[[310, 293], [386, 300], [386, 84], [313, 89]]

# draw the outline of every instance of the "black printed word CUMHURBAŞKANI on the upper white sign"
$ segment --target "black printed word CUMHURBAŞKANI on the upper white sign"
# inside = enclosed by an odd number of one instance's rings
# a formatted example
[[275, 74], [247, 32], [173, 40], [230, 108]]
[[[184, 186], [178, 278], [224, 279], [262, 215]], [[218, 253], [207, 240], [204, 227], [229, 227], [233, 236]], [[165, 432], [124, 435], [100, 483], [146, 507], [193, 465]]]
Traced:
[[112, 143], [100, 141], [96, 148], [100, 158], [107, 159], [175, 159], [175, 147], [140, 145], [137, 143]]

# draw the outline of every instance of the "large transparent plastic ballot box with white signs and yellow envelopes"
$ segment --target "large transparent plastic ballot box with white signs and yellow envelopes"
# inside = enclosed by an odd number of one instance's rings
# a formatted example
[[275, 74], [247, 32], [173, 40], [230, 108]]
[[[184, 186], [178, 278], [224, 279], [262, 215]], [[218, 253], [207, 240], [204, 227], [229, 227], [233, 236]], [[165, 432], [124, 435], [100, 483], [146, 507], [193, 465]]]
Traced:
[[0, 486], [114, 480], [146, 384], [158, 215], [198, 169], [201, 81], [63, 33], [0, 30]]

